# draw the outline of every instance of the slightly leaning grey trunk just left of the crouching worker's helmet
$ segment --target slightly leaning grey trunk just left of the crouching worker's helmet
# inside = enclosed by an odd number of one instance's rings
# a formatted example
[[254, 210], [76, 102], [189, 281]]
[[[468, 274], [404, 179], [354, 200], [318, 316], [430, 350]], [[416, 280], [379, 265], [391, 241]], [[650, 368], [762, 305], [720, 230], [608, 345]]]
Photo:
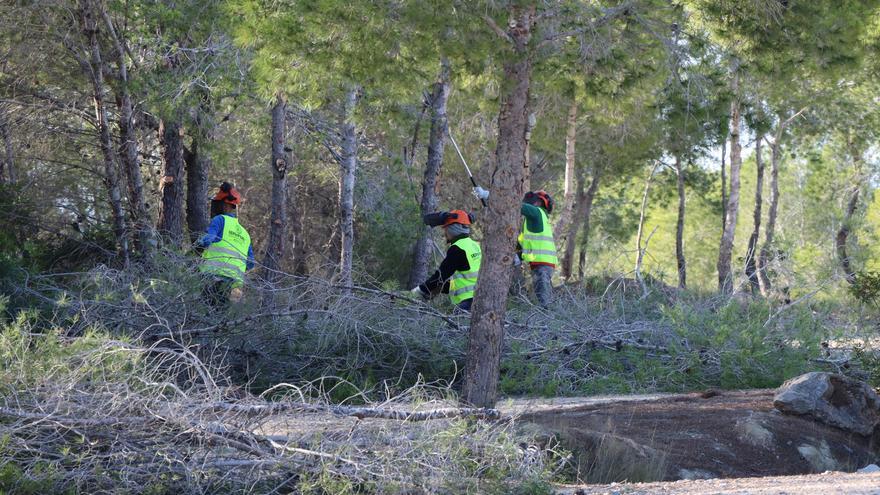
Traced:
[[[428, 142], [428, 160], [425, 164], [425, 177], [422, 180], [421, 213], [426, 215], [437, 211], [437, 179], [443, 165], [443, 150], [446, 145], [446, 102], [449, 99], [449, 62], [444, 58], [440, 64], [440, 77], [434, 83], [431, 93], [431, 137]], [[428, 260], [431, 257], [431, 227], [424, 226], [413, 250], [413, 264], [409, 273], [408, 287], [428, 278]]]

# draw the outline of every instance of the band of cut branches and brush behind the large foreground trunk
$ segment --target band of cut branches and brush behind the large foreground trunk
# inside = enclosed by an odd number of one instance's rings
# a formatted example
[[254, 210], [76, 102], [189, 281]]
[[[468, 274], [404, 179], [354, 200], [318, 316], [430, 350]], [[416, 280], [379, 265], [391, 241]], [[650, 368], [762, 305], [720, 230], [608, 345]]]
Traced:
[[[260, 392], [279, 382], [320, 383], [334, 400], [381, 399], [417, 383], [458, 385], [468, 315], [447, 303], [286, 276], [271, 291], [259, 280], [229, 311], [201, 301], [194, 266], [165, 253], [150, 276], [98, 267], [39, 275], [16, 284], [42, 327], [67, 336], [92, 329], [146, 343], [171, 338], [198, 346], [231, 383]], [[722, 298], [656, 283], [648, 297], [627, 281], [563, 287], [550, 309], [513, 294], [501, 390], [558, 396], [774, 387], [816, 369], [860, 374], [841, 347], [858, 339], [871, 354], [867, 305], [795, 304]], [[599, 290], [597, 290], [599, 289]], [[19, 303], [20, 304], [20, 303]], [[867, 359], [863, 359], [867, 363]], [[855, 363], [858, 364], [858, 363]]]

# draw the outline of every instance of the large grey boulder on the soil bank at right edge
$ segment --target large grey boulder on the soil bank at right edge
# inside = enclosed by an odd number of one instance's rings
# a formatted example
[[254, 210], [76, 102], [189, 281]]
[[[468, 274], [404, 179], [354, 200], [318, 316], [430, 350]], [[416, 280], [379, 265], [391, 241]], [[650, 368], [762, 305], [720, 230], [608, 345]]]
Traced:
[[815, 371], [792, 378], [779, 387], [773, 406], [865, 436], [880, 424], [877, 392], [864, 382], [834, 373]]

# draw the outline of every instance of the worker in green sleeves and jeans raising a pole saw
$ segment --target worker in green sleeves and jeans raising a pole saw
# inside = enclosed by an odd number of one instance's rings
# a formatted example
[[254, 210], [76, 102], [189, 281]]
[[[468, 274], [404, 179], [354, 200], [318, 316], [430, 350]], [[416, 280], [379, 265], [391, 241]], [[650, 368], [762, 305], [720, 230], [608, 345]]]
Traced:
[[[475, 187], [474, 196], [485, 200], [489, 198], [489, 191]], [[552, 212], [553, 198], [545, 191], [529, 191], [523, 197], [520, 206], [523, 227], [518, 239], [520, 256], [529, 264], [535, 297], [545, 308], [553, 299], [553, 271], [559, 263], [549, 219]]]

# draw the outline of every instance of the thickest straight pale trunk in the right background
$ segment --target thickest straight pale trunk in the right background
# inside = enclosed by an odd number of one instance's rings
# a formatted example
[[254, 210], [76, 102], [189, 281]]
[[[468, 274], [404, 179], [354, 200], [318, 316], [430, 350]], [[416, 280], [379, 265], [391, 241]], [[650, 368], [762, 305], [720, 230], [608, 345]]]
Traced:
[[727, 211], [724, 221], [724, 232], [718, 249], [718, 290], [723, 294], [733, 292], [733, 274], [730, 271], [730, 260], [733, 256], [733, 242], [736, 234], [736, 222], [739, 214], [740, 169], [742, 168], [742, 148], [739, 143], [740, 133], [740, 96], [739, 67], [733, 62], [731, 70], [730, 103], [730, 195], [727, 198]]

